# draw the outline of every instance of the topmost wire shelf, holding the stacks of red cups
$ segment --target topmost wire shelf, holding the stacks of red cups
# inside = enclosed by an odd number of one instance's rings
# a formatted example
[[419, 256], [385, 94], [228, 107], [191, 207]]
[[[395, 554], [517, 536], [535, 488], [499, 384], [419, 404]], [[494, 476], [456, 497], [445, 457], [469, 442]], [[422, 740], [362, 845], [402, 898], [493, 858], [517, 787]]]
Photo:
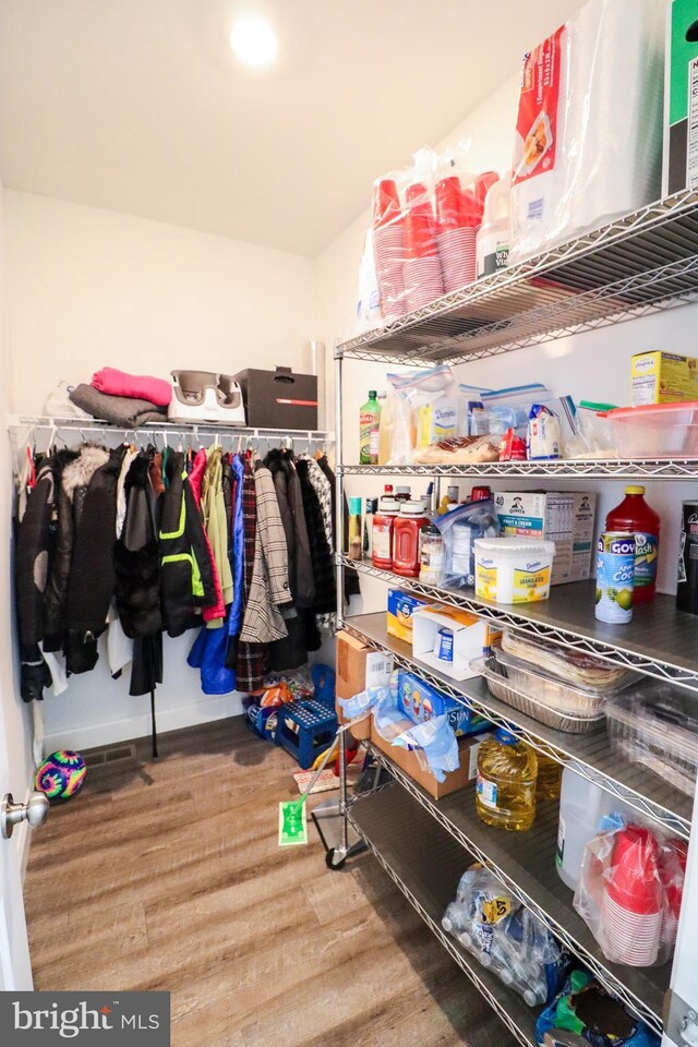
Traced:
[[698, 301], [698, 193], [682, 192], [337, 347], [462, 363]]

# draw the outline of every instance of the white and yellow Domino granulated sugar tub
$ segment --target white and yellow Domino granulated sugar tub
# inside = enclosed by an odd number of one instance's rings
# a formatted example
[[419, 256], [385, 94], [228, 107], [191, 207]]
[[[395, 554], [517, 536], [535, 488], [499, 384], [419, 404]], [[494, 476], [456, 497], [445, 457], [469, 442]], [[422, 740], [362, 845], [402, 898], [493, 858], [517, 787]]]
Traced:
[[547, 600], [555, 542], [478, 538], [476, 595], [494, 603]]

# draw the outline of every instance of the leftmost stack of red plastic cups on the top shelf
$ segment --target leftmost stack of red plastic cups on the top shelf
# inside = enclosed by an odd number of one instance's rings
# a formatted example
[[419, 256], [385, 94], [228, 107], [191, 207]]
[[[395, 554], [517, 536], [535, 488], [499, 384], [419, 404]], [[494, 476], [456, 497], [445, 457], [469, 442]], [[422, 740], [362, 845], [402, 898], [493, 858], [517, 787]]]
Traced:
[[407, 310], [402, 260], [405, 221], [397, 185], [390, 178], [374, 186], [373, 251], [384, 320], [401, 316]]

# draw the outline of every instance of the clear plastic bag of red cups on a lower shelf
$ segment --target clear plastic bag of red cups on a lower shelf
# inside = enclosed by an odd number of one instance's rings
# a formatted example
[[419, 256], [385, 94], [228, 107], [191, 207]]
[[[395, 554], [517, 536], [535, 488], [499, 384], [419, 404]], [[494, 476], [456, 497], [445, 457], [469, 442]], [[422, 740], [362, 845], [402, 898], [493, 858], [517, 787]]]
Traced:
[[686, 843], [621, 815], [601, 825], [585, 849], [575, 908], [612, 962], [666, 963], [676, 941]]

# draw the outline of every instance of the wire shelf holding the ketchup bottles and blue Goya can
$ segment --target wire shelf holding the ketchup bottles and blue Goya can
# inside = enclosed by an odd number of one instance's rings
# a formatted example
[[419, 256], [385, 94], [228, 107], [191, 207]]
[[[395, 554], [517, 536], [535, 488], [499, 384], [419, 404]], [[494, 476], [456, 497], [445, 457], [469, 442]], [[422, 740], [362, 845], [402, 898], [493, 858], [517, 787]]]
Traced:
[[510, 626], [646, 676], [698, 690], [696, 619], [677, 611], [672, 597], [658, 593], [652, 604], [638, 607], [631, 623], [618, 627], [594, 618], [593, 581], [556, 586], [550, 600], [509, 609], [480, 600], [469, 589], [438, 589], [416, 578], [402, 578], [374, 567], [371, 561], [353, 561], [338, 555], [337, 562], [431, 602], [460, 607], [497, 625]]

